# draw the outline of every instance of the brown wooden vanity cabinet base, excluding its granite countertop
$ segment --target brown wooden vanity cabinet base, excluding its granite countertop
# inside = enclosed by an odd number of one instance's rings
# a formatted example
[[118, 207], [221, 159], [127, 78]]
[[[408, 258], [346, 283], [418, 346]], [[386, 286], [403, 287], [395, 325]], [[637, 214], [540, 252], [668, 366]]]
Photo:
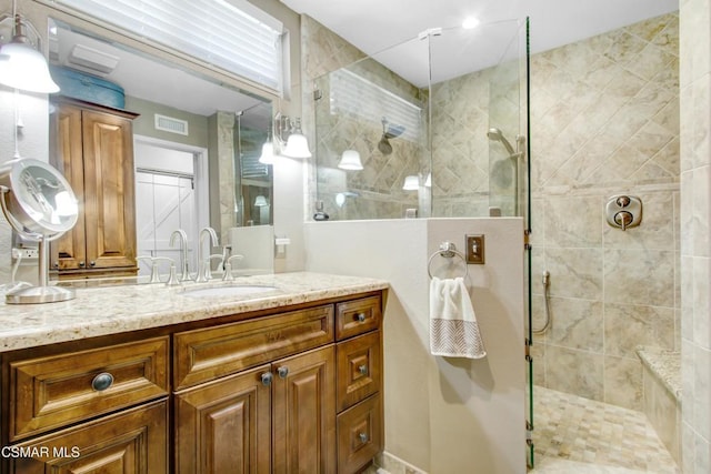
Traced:
[[359, 473], [383, 448], [381, 304], [372, 292], [2, 354], [0, 444], [21, 455], [0, 471]]

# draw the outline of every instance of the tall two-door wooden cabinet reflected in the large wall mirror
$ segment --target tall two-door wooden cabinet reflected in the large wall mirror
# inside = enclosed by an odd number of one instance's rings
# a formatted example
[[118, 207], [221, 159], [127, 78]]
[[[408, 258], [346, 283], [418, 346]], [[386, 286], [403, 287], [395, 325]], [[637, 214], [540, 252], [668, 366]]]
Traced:
[[60, 275], [136, 274], [136, 192], [130, 112], [59, 99], [51, 127], [52, 163], [79, 201], [72, 231], [52, 244]]

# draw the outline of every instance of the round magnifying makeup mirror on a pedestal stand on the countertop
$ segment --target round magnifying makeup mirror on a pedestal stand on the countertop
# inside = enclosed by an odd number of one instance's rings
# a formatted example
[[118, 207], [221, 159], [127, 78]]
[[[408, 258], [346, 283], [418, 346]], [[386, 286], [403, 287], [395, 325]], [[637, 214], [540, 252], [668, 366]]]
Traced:
[[6, 292], [11, 304], [50, 303], [74, 297], [71, 289], [49, 285], [48, 242], [77, 224], [77, 198], [62, 174], [46, 162], [20, 158], [0, 168], [0, 205], [10, 226], [39, 242], [37, 286], [19, 283]]

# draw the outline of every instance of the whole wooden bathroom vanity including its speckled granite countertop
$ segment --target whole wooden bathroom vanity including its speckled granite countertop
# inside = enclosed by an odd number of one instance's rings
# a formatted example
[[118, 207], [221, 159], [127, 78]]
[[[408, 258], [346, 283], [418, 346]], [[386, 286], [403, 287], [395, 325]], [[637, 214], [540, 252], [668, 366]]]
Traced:
[[283, 273], [231, 285], [251, 286], [3, 305], [2, 472], [365, 467], [383, 448], [387, 282]]

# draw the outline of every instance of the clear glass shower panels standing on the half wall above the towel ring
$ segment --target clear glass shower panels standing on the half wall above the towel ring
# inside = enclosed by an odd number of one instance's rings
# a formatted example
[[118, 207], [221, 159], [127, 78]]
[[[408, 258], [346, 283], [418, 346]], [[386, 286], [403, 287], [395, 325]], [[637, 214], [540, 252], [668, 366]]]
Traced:
[[522, 216], [528, 235], [528, 19], [431, 28], [318, 78], [314, 208], [330, 220]]

